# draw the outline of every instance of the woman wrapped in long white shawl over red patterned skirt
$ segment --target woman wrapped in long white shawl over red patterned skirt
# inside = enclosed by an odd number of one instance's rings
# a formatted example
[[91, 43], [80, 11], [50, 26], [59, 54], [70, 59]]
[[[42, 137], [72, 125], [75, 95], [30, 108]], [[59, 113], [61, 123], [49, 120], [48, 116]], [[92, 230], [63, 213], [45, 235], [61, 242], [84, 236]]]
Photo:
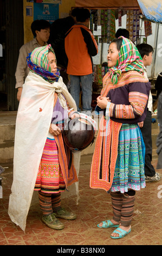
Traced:
[[[25, 230], [26, 219], [37, 190], [42, 221], [62, 229], [56, 217], [74, 220], [76, 215], [61, 208], [61, 191], [77, 181], [69, 149], [64, 147], [63, 121], [75, 118], [75, 101], [57, 70], [50, 45], [38, 47], [27, 58], [29, 75], [18, 107], [14, 148], [14, 180], [9, 199], [11, 220]], [[73, 108], [73, 111], [68, 109]]]

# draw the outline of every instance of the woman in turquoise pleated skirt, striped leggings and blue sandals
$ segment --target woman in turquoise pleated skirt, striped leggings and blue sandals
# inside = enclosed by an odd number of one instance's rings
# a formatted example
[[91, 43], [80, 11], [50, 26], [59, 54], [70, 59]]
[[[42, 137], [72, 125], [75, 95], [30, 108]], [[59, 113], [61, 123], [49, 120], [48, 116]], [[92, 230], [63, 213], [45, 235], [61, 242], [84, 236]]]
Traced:
[[129, 39], [114, 39], [107, 60], [109, 70], [103, 77], [96, 106], [103, 117], [96, 138], [90, 187], [111, 194], [113, 219], [102, 221], [98, 227], [117, 227], [111, 237], [119, 239], [131, 231], [135, 191], [145, 187], [145, 145], [137, 123], [146, 117], [151, 86], [143, 75], [140, 54]]

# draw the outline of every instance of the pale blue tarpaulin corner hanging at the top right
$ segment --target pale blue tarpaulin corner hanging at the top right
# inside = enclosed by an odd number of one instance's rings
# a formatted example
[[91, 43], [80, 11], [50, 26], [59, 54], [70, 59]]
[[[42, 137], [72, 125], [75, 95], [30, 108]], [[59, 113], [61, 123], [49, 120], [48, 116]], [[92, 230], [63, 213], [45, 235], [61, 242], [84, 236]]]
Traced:
[[138, 0], [138, 4], [147, 20], [162, 23], [161, 0]]

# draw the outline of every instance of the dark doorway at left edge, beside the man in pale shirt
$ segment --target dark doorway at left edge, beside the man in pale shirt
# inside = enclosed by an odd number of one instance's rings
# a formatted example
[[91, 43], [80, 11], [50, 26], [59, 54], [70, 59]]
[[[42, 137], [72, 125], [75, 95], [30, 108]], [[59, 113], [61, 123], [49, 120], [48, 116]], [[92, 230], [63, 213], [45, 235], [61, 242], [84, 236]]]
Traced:
[[15, 71], [24, 42], [23, 1], [0, 0], [0, 111], [16, 111]]

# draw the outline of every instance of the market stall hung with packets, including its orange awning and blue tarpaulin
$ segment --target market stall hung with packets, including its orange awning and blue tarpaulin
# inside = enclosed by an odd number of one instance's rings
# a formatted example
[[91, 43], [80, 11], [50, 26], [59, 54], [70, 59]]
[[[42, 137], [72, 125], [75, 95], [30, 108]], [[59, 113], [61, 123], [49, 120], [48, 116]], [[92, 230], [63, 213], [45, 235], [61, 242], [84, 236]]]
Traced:
[[[107, 48], [108, 44], [115, 38], [118, 28], [126, 28], [129, 31], [129, 39], [135, 45], [142, 42], [151, 44], [154, 48], [154, 58], [151, 67], [148, 67], [148, 77], [155, 80], [160, 66], [157, 56], [158, 31], [159, 28], [152, 22], [160, 23], [162, 20], [162, 7], [159, 0], [138, 1], [98, 1], [98, 0], [75, 0], [75, 7], [88, 8], [90, 10], [90, 29], [99, 45], [98, 56], [93, 57], [93, 99], [94, 107], [96, 97], [102, 88], [102, 78], [107, 72]], [[154, 25], [152, 27], [152, 25]]]

